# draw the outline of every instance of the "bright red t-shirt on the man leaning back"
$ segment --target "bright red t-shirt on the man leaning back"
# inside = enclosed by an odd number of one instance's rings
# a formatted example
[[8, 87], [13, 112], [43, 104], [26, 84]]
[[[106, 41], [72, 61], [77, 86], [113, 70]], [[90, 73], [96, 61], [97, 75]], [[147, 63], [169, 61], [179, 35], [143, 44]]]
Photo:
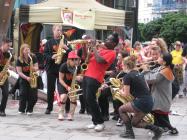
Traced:
[[98, 63], [95, 56], [92, 55], [88, 63], [88, 69], [85, 72], [85, 76], [94, 78], [102, 83], [105, 71], [110, 67], [116, 58], [116, 52], [114, 50], [100, 49], [98, 53], [107, 63]]

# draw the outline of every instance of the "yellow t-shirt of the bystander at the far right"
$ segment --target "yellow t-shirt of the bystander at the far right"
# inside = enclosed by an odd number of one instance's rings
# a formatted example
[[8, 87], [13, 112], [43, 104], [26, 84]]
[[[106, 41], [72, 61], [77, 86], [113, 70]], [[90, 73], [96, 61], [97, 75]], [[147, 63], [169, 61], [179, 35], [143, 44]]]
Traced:
[[173, 51], [171, 52], [171, 55], [172, 55], [172, 57], [173, 57], [172, 63], [173, 63], [174, 65], [182, 64], [182, 63], [183, 63], [183, 59], [182, 59], [182, 49], [179, 50], [179, 51], [173, 50]]

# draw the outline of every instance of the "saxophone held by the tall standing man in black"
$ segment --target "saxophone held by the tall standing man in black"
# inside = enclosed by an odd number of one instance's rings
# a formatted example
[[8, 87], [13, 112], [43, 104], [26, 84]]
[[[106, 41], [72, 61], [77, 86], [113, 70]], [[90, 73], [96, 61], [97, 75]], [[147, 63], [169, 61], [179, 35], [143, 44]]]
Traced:
[[64, 45], [64, 35], [62, 35], [61, 39], [60, 39], [60, 44], [57, 50], [57, 57], [55, 58], [55, 64], [60, 64], [62, 61], [62, 57], [64, 55], [64, 53], [66, 52], [63, 49], [63, 45]]

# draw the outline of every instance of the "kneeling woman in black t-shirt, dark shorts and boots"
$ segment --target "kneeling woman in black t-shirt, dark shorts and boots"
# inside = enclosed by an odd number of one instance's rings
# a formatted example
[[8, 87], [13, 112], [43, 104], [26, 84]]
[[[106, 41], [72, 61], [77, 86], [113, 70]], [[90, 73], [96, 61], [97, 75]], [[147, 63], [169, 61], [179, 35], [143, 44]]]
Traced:
[[[132, 125], [137, 128], [150, 129], [154, 132], [152, 139], [159, 139], [162, 135], [162, 129], [148, 124], [145, 121], [141, 121], [147, 113], [151, 112], [153, 107], [153, 99], [149, 92], [149, 88], [145, 82], [143, 75], [141, 75], [136, 69], [136, 57], [129, 56], [124, 59], [123, 70], [127, 74], [123, 78], [123, 88], [121, 95], [125, 97], [134, 97], [134, 100], [122, 105], [119, 108], [119, 114], [126, 129], [121, 137], [134, 139], [134, 131]], [[132, 119], [128, 116], [128, 113], [134, 113]]]

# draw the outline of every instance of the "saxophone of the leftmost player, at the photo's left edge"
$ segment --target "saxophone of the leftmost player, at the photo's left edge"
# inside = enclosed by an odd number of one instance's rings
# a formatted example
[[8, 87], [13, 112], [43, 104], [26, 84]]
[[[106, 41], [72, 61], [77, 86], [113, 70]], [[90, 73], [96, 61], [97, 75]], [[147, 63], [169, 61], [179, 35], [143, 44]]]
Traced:
[[9, 53], [9, 58], [5, 64], [5, 66], [3, 67], [3, 70], [0, 72], [0, 75], [2, 75], [1, 79], [0, 79], [0, 86], [4, 85], [5, 81], [8, 79], [10, 73], [8, 72], [8, 66], [11, 62], [12, 59], [12, 54], [10, 52]]

